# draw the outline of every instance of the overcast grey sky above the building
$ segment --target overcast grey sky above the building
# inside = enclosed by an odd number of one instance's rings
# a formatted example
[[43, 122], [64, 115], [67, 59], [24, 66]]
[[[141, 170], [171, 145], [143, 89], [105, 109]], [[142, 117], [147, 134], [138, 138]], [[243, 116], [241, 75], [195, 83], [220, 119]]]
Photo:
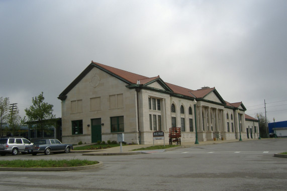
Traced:
[[21, 116], [59, 94], [91, 62], [215, 87], [246, 114], [287, 120], [287, 1], [0, 0], [0, 97]]

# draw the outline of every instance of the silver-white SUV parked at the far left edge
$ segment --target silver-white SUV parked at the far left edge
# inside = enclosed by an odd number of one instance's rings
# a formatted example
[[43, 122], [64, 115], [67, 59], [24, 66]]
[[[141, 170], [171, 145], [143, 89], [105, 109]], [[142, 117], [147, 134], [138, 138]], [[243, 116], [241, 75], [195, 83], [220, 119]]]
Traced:
[[25, 147], [32, 145], [28, 139], [24, 137], [6, 137], [0, 139], [0, 154], [5, 156], [7, 153], [17, 155], [19, 152], [26, 154]]

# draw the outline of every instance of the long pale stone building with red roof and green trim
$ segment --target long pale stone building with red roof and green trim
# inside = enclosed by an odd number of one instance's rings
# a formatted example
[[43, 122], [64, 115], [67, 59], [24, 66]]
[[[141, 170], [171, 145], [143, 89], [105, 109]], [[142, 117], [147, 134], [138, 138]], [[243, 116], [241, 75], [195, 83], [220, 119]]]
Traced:
[[224, 101], [215, 87], [192, 90], [93, 61], [58, 99], [63, 142], [107, 142], [124, 133], [127, 143], [151, 144], [156, 130], [168, 142], [170, 127], [181, 127], [182, 142], [195, 141], [196, 129], [199, 141], [259, 137], [242, 102]]

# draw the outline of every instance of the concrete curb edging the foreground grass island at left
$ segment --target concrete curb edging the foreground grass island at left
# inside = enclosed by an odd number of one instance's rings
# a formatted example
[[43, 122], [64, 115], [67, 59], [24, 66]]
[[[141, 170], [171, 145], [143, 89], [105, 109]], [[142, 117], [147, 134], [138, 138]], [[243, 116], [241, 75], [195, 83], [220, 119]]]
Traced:
[[75, 167], [55, 167], [55, 168], [15, 168], [15, 167], [0, 167], [0, 171], [67, 171], [67, 170], [85, 170], [90, 168], [99, 168], [104, 163], [99, 161], [98, 164], [92, 164], [87, 166], [75, 166]]

